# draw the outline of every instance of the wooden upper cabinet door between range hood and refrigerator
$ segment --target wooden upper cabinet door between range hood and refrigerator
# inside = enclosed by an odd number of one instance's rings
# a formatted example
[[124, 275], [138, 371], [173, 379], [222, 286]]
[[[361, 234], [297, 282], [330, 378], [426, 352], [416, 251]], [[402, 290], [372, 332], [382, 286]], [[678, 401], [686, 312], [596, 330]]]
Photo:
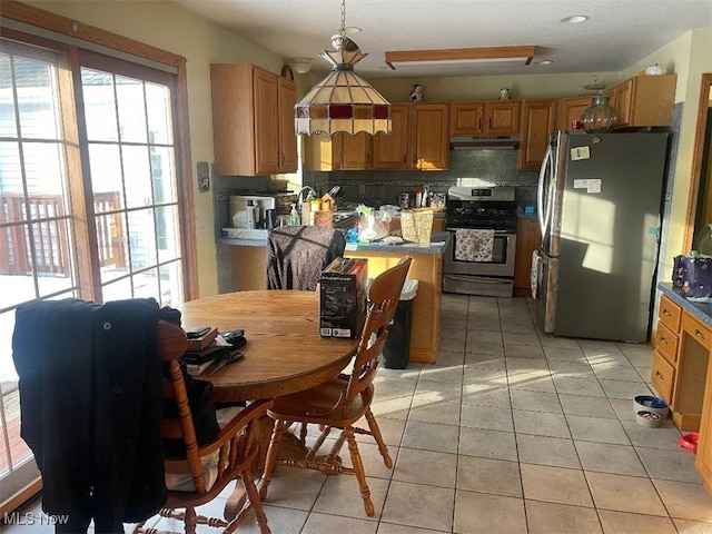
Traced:
[[540, 169], [551, 135], [556, 129], [556, 103], [554, 99], [522, 102], [517, 169]]

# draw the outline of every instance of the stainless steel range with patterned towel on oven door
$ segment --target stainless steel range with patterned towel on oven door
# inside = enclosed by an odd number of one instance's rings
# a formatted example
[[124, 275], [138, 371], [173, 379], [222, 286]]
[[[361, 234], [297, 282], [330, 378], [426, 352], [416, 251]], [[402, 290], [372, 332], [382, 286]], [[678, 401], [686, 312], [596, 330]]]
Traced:
[[[451, 187], [443, 290], [511, 297], [514, 290], [514, 187]], [[476, 230], [476, 231], [472, 231]]]

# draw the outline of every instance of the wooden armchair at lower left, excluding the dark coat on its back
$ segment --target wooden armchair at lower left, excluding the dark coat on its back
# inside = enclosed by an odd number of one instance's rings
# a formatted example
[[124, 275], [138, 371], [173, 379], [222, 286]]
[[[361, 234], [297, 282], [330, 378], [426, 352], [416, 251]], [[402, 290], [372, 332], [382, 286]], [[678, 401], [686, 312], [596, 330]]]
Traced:
[[[186, 382], [178, 358], [188, 346], [186, 333], [178, 325], [159, 322], [159, 353], [168, 367], [164, 384], [164, 398], [175, 403], [177, 416], [164, 417], [162, 435], [165, 441], [181, 441], [185, 452], [165, 458], [168, 501], [159, 512], [185, 523], [186, 534], [194, 534], [196, 526], [207, 524], [222, 528], [224, 533], [234, 532], [237, 526], [255, 512], [261, 534], [269, 534], [267, 517], [263, 512], [251, 466], [257, 457], [259, 444], [256, 438], [256, 421], [271, 406], [271, 400], [255, 400], [245, 408], [233, 408], [237, 415], [220, 425], [219, 433], [208, 443], [198, 444], [194, 417], [190, 413]], [[218, 422], [220, 416], [218, 414]], [[184, 447], [181, 447], [184, 449]], [[196, 513], [196, 506], [212, 501], [225, 487], [241, 479], [247, 498], [228, 500], [224, 518], [205, 517]], [[241, 487], [235, 488], [241, 492]], [[239, 502], [240, 510], [231, 510], [229, 503]], [[152, 534], [155, 528], [139, 524], [135, 534]]]

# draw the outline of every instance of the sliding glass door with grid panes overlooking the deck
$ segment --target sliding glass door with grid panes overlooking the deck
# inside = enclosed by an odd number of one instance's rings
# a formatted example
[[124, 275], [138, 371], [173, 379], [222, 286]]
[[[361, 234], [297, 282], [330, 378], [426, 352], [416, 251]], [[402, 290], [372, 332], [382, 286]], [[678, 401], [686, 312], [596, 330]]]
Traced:
[[171, 306], [185, 287], [176, 76], [10, 33], [0, 39], [0, 503], [38, 477], [19, 435], [17, 307]]

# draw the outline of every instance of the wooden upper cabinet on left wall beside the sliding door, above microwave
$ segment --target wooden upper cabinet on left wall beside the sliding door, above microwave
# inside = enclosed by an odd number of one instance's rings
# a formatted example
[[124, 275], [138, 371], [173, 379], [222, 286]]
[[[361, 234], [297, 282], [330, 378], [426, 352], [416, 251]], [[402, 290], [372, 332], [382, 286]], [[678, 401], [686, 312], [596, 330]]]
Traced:
[[295, 83], [251, 63], [216, 63], [210, 85], [216, 171], [295, 172]]

